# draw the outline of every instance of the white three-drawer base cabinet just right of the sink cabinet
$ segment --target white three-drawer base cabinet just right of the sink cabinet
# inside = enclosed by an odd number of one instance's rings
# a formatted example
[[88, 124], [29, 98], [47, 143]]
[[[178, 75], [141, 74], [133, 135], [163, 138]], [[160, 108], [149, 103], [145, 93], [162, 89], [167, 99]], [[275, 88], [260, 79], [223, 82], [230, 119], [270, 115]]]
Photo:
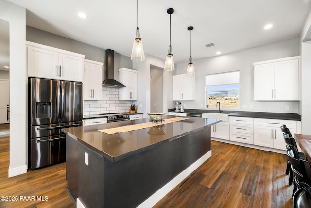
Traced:
[[230, 141], [254, 144], [254, 118], [230, 117]]

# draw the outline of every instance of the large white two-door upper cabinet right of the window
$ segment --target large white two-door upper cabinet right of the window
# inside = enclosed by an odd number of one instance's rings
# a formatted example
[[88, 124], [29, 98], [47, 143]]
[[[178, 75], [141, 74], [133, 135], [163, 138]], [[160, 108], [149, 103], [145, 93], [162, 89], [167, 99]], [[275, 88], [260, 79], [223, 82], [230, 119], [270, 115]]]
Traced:
[[254, 63], [254, 100], [299, 100], [299, 58]]

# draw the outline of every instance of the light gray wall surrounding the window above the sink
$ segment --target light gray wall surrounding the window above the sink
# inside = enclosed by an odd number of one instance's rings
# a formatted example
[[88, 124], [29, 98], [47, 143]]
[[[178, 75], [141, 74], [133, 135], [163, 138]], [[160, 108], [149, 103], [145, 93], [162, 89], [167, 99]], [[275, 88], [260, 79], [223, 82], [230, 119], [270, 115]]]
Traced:
[[[240, 70], [240, 109], [238, 110], [298, 113], [299, 101], [254, 101], [253, 63], [299, 56], [299, 54], [299, 41], [293, 39], [193, 61], [196, 72], [196, 100], [183, 102], [183, 104], [186, 104], [185, 108], [207, 109], [205, 107], [205, 75]], [[177, 74], [184, 74], [186, 70], [187, 63], [177, 65]], [[173, 104], [172, 102], [172, 108]], [[242, 105], [245, 105], [246, 108], [242, 108]], [[250, 105], [253, 108], [250, 108]], [[289, 110], [285, 110], [285, 105], [289, 106]], [[216, 108], [208, 109], [214, 110]], [[226, 109], [224, 108], [224, 110]]]

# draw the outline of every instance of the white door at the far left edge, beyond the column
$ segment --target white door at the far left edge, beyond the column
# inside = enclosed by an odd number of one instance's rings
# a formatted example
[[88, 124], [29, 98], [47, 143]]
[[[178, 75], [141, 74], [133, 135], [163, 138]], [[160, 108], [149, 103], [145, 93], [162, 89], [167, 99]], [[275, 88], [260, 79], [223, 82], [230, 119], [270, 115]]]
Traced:
[[9, 123], [10, 82], [8, 80], [0, 80], [0, 97], [0, 124]]

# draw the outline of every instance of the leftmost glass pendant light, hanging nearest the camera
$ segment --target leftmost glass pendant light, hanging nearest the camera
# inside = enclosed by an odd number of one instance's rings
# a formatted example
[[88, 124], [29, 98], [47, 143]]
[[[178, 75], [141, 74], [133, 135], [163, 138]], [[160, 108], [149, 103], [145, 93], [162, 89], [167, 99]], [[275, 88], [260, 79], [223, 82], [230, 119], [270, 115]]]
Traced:
[[145, 54], [144, 49], [142, 47], [142, 41], [139, 34], [138, 28], [138, 0], [137, 0], [137, 28], [136, 28], [136, 38], [133, 43], [132, 54], [131, 54], [132, 61], [144, 61]]

